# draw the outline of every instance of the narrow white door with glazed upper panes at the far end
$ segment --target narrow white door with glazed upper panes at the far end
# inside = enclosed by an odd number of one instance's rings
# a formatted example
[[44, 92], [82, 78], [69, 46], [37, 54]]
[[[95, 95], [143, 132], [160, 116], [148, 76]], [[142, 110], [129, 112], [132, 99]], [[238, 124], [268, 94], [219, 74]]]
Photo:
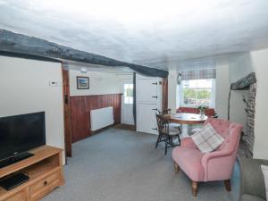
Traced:
[[134, 125], [133, 117], [133, 82], [122, 82], [122, 99], [121, 99], [121, 123]]

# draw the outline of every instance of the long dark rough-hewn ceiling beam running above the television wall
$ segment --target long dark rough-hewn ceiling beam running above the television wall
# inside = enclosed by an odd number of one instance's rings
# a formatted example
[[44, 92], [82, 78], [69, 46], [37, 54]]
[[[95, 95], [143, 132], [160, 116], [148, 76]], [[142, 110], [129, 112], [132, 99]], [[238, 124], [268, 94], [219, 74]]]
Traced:
[[117, 61], [102, 55], [91, 54], [68, 46], [61, 46], [41, 38], [29, 37], [4, 29], [0, 29], [0, 50], [11, 53], [38, 55], [48, 58], [61, 58], [80, 63], [92, 63], [113, 67], [126, 66], [133, 71], [137, 71], [138, 73], [147, 76], [162, 78], [168, 76], [168, 71]]

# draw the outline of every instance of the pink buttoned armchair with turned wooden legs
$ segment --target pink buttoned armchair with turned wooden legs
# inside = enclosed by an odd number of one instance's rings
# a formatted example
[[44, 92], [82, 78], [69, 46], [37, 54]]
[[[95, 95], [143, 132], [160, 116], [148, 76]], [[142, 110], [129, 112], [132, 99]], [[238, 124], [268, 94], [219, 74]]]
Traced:
[[179, 169], [192, 180], [192, 193], [197, 196], [198, 182], [224, 180], [225, 188], [230, 191], [232, 174], [239, 148], [240, 133], [243, 126], [226, 120], [208, 118], [214, 130], [225, 139], [220, 147], [212, 153], [202, 153], [191, 138], [183, 138], [180, 147], [172, 151], [175, 172]]

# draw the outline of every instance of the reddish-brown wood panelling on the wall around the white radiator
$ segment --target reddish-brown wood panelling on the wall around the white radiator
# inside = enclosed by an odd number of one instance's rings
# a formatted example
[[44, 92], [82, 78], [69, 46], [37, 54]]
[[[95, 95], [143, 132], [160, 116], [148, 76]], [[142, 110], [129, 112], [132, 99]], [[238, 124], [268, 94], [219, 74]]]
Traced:
[[71, 141], [91, 135], [90, 110], [113, 106], [114, 124], [121, 122], [121, 94], [71, 96]]

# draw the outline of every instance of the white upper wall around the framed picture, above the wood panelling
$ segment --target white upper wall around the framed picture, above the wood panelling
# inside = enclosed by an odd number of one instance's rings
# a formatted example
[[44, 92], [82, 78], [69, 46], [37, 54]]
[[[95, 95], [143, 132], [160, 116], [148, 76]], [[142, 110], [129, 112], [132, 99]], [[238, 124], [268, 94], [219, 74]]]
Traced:
[[[70, 70], [70, 95], [90, 96], [121, 93], [121, 80], [113, 73]], [[77, 76], [89, 77], [89, 89], [77, 89]]]

